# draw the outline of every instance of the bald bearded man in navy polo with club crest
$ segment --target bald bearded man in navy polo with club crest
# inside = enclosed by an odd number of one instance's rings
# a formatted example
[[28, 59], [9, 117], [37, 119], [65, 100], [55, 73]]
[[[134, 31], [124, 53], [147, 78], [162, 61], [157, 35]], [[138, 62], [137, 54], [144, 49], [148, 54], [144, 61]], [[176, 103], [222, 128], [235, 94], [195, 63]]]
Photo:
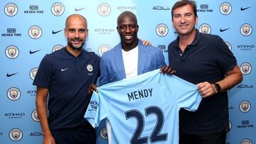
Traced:
[[68, 45], [43, 57], [33, 82], [43, 143], [95, 143], [95, 131], [84, 115], [90, 101], [87, 87], [100, 75], [100, 57], [82, 49], [88, 35], [83, 16], [68, 16], [64, 33]]

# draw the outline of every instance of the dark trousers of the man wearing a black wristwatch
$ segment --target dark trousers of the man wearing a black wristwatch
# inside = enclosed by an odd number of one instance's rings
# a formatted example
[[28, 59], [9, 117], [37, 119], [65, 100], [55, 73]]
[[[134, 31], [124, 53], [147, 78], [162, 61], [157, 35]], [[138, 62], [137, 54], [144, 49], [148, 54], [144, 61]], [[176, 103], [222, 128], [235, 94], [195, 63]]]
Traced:
[[179, 144], [225, 144], [226, 131], [209, 135], [179, 133]]

